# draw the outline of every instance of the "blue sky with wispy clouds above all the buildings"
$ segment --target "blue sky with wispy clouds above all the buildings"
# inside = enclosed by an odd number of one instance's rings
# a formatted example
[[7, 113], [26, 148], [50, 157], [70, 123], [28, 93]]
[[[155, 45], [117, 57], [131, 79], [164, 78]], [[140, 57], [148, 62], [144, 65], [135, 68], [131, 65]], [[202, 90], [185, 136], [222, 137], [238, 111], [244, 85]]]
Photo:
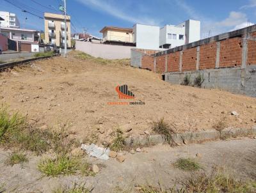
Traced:
[[[44, 12], [56, 12], [54, 8], [58, 9], [62, 3], [61, 0], [7, 1], [41, 17]], [[4, 0], [0, 0], [0, 10], [16, 13], [21, 26], [27, 17], [26, 28], [44, 30], [44, 20]], [[202, 22], [202, 37], [205, 37], [209, 31], [216, 35], [244, 26], [248, 20], [255, 24], [256, 0], [67, 0], [67, 12], [76, 31], [81, 32], [85, 27], [96, 36], [100, 36], [104, 26], [132, 27], [137, 22], [164, 26], [196, 19]]]

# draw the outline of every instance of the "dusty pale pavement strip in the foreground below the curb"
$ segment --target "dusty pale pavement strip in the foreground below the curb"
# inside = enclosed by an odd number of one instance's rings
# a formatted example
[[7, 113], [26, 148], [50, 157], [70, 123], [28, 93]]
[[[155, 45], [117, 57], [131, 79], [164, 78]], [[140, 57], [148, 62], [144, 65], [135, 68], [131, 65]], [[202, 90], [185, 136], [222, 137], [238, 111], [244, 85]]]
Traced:
[[[201, 157], [196, 157], [200, 153]], [[202, 171], [211, 174], [216, 167], [222, 167], [237, 179], [256, 179], [256, 139], [189, 144], [171, 148], [158, 145], [143, 148], [143, 152], [132, 155], [127, 153], [123, 163], [110, 158], [107, 161], [89, 158], [90, 162], [104, 164], [105, 167], [95, 177], [80, 175], [48, 178], [42, 176], [36, 166], [40, 157], [29, 156], [29, 162], [22, 167], [6, 166], [4, 160], [8, 152], [0, 150], [0, 181], [7, 192], [51, 192], [61, 186], [74, 183], [85, 184], [93, 188], [93, 193], [134, 192], [134, 185], [153, 185], [170, 188], [179, 179], [190, 176], [190, 172], [180, 171], [173, 166], [177, 158], [189, 157], [202, 167]]]

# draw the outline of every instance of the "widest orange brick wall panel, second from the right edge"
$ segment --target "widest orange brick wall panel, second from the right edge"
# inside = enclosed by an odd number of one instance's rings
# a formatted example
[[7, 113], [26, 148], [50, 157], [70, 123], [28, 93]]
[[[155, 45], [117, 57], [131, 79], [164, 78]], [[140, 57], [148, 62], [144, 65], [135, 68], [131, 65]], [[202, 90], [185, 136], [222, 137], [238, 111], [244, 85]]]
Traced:
[[220, 67], [241, 66], [243, 43], [241, 38], [231, 38], [220, 43]]

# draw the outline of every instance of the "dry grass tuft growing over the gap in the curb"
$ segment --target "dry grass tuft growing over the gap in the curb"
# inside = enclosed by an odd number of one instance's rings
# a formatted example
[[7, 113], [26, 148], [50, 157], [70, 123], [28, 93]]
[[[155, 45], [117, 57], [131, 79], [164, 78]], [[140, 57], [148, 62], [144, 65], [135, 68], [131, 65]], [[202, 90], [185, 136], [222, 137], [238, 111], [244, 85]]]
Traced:
[[157, 134], [160, 134], [164, 137], [164, 140], [169, 144], [173, 142], [172, 134], [175, 134], [173, 128], [164, 121], [164, 118], [161, 118], [157, 122], [153, 122], [153, 131]]

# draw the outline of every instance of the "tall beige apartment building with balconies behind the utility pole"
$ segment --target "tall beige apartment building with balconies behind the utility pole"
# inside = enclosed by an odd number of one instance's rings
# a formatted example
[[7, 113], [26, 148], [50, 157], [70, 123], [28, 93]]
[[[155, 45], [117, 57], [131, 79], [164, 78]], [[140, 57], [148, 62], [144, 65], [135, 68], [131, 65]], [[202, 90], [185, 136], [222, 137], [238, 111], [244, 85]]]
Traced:
[[[71, 47], [70, 16], [67, 15], [67, 47]], [[45, 43], [52, 43], [64, 47], [65, 19], [64, 15], [44, 13]]]

